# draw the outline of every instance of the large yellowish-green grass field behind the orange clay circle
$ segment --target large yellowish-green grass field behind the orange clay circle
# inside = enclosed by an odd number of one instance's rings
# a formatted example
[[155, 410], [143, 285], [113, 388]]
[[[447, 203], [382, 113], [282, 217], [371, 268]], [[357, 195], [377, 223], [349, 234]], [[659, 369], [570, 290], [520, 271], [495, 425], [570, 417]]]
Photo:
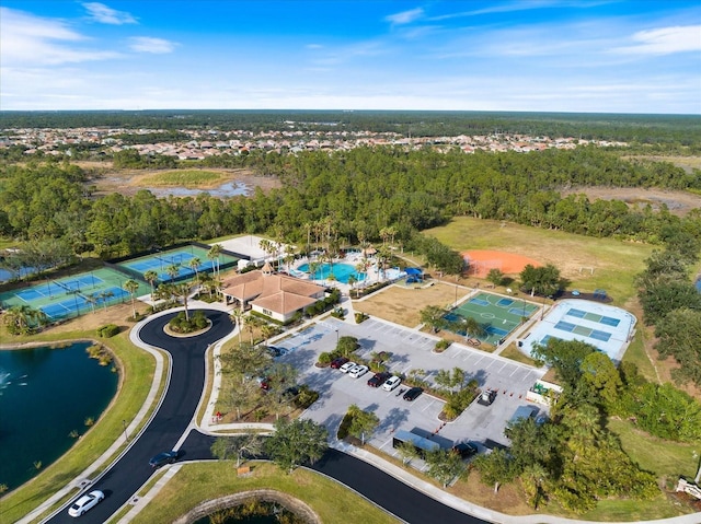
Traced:
[[[612, 238], [528, 228], [501, 221], [457, 217], [449, 224], [426, 230], [444, 244], [459, 252], [495, 249], [524, 255], [553, 264], [571, 280], [570, 289], [594, 291], [601, 288], [616, 305], [634, 296], [633, 280], [644, 268], [653, 247]], [[594, 268], [579, 272], [579, 268]]]

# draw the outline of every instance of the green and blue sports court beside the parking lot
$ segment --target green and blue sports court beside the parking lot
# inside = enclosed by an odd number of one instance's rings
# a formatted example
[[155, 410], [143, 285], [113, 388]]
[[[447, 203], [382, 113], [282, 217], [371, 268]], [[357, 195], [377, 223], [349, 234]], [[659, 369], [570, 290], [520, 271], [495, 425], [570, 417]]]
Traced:
[[[502, 338], [518, 327], [524, 318], [529, 318], [536, 311], [537, 305], [522, 299], [481, 292], [452, 310], [445, 318], [458, 323], [464, 318], [474, 318], [485, 327], [486, 336], [472, 338], [496, 346]], [[456, 333], [467, 336], [464, 330]]]

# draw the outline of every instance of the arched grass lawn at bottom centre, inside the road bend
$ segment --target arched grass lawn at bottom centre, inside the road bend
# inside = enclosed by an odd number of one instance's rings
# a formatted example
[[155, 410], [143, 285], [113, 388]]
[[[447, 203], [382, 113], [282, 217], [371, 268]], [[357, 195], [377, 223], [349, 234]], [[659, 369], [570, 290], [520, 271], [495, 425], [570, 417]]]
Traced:
[[324, 524], [398, 522], [340, 484], [307, 469], [291, 475], [266, 463], [252, 463], [251, 476], [238, 477], [233, 462], [187, 464], [163, 487], [131, 522], [160, 524], [173, 522], [198, 503], [251, 489], [284, 491], [306, 502]]

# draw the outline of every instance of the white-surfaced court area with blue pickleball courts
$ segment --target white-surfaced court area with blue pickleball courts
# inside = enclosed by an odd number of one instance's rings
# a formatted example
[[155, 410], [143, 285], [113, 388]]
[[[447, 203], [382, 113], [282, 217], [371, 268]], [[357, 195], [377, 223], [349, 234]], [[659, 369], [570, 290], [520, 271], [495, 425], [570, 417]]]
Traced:
[[519, 347], [530, 354], [535, 345], [547, 345], [551, 338], [582, 340], [618, 363], [628, 348], [635, 323], [635, 317], [620, 307], [567, 299], [559, 301], [543, 322], [519, 341]]

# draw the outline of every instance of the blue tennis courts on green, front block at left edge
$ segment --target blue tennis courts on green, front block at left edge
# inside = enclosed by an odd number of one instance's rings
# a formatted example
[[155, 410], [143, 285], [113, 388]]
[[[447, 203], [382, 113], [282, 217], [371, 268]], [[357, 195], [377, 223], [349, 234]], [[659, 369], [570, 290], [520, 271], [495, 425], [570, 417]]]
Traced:
[[[124, 282], [129, 280], [114, 269], [102, 268], [61, 279], [49, 279], [30, 288], [7, 291], [0, 294], [5, 308], [28, 305], [42, 310], [50, 321], [72, 318], [83, 313], [125, 302], [130, 299]], [[150, 288], [139, 282], [136, 296], [148, 294]]]

